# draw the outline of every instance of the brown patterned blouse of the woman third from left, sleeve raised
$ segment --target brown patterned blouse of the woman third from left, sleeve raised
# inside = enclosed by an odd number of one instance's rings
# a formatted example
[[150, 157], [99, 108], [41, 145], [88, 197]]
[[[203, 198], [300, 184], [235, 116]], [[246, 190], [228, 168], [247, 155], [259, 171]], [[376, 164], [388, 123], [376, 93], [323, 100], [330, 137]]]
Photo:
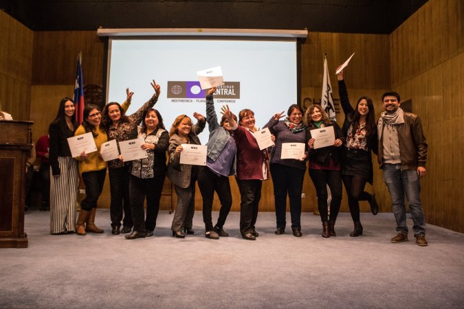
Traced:
[[[140, 107], [138, 111], [128, 116], [129, 122], [119, 122], [116, 128], [110, 128], [108, 132], [108, 140], [110, 141], [111, 139], [115, 139], [119, 142], [127, 141], [131, 138], [134, 138], [135, 129], [140, 124], [140, 122], [142, 122], [142, 116], [144, 114], [144, 111], [146, 111], [148, 108], [152, 108], [157, 102], [157, 100], [158, 98], [154, 94], [153, 97], [151, 97], [151, 99], [148, 100], [148, 102], [146, 102], [142, 107]], [[123, 104], [122, 108], [126, 110], [127, 108], [129, 108], [129, 106], [125, 106]], [[120, 159], [114, 159], [108, 162], [108, 168], [122, 168], [123, 166], [124, 162], [121, 162]]]

